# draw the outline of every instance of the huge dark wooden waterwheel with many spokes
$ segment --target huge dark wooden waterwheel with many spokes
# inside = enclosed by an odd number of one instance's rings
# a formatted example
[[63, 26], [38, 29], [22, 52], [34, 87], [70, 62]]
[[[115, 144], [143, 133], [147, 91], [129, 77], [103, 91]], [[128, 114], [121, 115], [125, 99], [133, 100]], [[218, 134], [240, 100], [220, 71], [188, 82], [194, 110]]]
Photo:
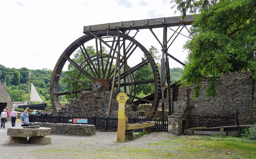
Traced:
[[[91, 33], [80, 37], [68, 46], [55, 65], [50, 83], [50, 98], [54, 113], [58, 113], [61, 110], [59, 103], [60, 95], [70, 94], [72, 97], [77, 97], [77, 94], [82, 90], [97, 91], [98, 87], [110, 90], [113, 78], [115, 78], [114, 87], [117, 90], [118, 81], [120, 81], [120, 90], [128, 95], [127, 103], [133, 104], [134, 100], [142, 100], [152, 104], [149, 107], [150, 111], [147, 116], [148, 118], [152, 118], [159, 102], [160, 77], [157, 65], [151, 54], [142, 44], [123, 32], [96, 31]], [[118, 45], [119, 42], [120, 44]], [[96, 50], [94, 55], [86, 51], [86, 46], [91, 46], [92, 44], [94, 44]], [[105, 48], [109, 49], [108, 52], [102, 51]], [[118, 69], [120, 71], [120, 80], [118, 80], [118, 75], [113, 77], [117, 54], [119, 53], [118, 48], [120, 50], [120, 67]], [[72, 55], [77, 51], [81, 51], [84, 55], [84, 59], [79, 64], [72, 60]], [[145, 55], [145, 60], [133, 64], [134, 58], [141, 58], [142, 54]], [[73, 75], [67, 76], [61, 74], [66, 62], [72, 64], [76, 69]], [[131, 64], [133, 66], [130, 66]], [[136, 79], [136, 76], [138, 76], [135, 75], [136, 72], [143, 71], [145, 67], [150, 67], [152, 71], [147, 74], [148, 79]], [[58, 90], [60, 78], [71, 80], [70, 91], [60, 92]], [[86, 79], [86, 81], [83, 79]], [[77, 85], [79, 84], [80, 87], [78, 88]], [[84, 85], [82, 89], [81, 84]], [[138, 87], [146, 88], [148, 85], [153, 85], [154, 87], [152, 92], [150, 92], [151, 98], [139, 97], [136, 91]]]

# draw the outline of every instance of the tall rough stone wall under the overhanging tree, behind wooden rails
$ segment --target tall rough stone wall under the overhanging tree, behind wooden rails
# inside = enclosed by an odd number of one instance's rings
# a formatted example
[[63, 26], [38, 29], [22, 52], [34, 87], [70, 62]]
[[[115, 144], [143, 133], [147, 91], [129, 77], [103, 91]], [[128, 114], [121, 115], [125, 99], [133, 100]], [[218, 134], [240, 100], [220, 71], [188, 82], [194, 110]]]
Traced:
[[[215, 98], [206, 97], [207, 80], [203, 81], [202, 85], [204, 88], [195, 100], [192, 99], [194, 87], [180, 87], [178, 109], [174, 113], [227, 117], [234, 116], [234, 111], [237, 111], [238, 125], [256, 122], [256, 107], [254, 107], [256, 106], [256, 82], [250, 72], [220, 75], [220, 81], [217, 84], [219, 95]], [[195, 120], [190, 121], [190, 126], [197, 126]]]

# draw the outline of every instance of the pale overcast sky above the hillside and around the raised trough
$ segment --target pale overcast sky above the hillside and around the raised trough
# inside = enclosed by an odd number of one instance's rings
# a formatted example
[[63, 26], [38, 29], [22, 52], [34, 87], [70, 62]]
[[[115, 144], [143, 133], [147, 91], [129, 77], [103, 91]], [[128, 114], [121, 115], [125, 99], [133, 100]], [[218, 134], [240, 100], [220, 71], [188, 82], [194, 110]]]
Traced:
[[[53, 70], [61, 53], [84, 35], [84, 26], [178, 15], [170, 0], [0, 0], [0, 64]], [[151, 40], [143, 38], [145, 32], [138, 33], [137, 40], [160, 52], [150, 32], [146, 34]], [[162, 30], [155, 32], [162, 41]], [[188, 38], [178, 37], [169, 53], [183, 62], [187, 53], [182, 46]], [[171, 61], [170, 67], [182, 65]]]

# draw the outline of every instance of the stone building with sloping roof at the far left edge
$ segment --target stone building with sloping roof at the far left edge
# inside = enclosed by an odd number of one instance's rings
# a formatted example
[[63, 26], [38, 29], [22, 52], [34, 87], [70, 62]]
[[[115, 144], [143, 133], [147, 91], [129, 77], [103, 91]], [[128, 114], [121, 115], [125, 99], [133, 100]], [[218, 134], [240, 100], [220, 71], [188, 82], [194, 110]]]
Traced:
[[2, 112], [3, 109], [7, 106], [10, 113], [12, 111], [12, 101], [12, 96], [0, 81], [0, 112]]

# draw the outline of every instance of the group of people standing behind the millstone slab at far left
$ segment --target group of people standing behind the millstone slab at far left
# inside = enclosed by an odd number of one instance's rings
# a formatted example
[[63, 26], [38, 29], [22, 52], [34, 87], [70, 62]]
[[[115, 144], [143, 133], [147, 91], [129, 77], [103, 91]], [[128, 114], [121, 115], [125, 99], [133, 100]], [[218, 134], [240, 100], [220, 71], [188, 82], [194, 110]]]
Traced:
[[[20, 119], [21, 119], [21, 126], [22, 126], [22, 127], [27, 127], [28, 124], [29, 124], [29, 121], [28, 121], [28, 111], [29, 111], [29, 108], [26, 107], [25, 110], [24, 110], [24, 112], [21, 114]], [[32, 114], [33, 114], [33, 115], [36, 115], [36, 111], [37, 111], [37, 110], [34, 110], [34, 111], [32, 112]], [[39, 110], [39, 111], [37, 112], [37, 114], [41, 114], [41, 110]], [[14, 111], [14, 108], [12, 108], [12, 111], [11, 111], [11, 113], [10, 113], [11, 122], [12, 122], [12, 127], [15, 127], [15, 122], [16, 122], [17, 115], [18, 115], [17, 112]], [[9, 117], [9, 112], [8, 112], [8, 108], [7, 108], [7, 107], [5, 107], [5, 108], [3, 109], [3, 112], [1, 112], [0, 117], [1, 117], [1, 126], [0, 126], [0, 128], [5, 128], [5, 123], [8, 122], [7, 119], [8, 119], [8, 117]]]

